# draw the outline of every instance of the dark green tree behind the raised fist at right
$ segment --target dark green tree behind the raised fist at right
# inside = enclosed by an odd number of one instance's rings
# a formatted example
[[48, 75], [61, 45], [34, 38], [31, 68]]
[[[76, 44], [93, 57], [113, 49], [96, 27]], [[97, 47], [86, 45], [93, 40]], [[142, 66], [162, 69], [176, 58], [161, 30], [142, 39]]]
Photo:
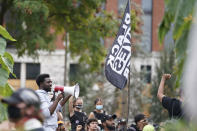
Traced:
[[[151, 106], [149, 108], [152, 120], [156, 123], [163, 122], [168, 119], [167, 111], [162, 107], [160, 101], [157, 98], [157, 91], [161, 81], [161, 76], [164, 73], [172, 73], [175, 66], [175, 56], [173, 50], [170, 52], [164, 51], [160, 56], [160, 63], [156, 66], [156, 76], [153, 78], [151, 88]], [[176, 97], [175, 90], [175, 75], [172, 74], [172, 78], [166, 81], [165, 94], [170, 97]]]

